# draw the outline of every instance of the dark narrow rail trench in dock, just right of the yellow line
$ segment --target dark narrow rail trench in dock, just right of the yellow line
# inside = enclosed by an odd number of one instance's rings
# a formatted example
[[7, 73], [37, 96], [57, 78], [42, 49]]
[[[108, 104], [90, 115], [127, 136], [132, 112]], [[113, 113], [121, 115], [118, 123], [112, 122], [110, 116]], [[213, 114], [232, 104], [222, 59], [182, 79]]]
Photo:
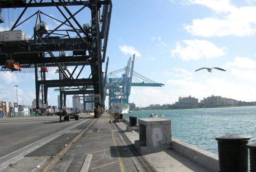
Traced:
[[122, 132], [122, 130], [118, 127], [118, 125], [114, 124], [116, 128], [121, 132], [122, 138], [126, 142], [127, 146], [131, 150], [134, 158], [138, 161], [144, 172], [157, 172], [149, 163], [148, 161], [141, 155], [141, 153], [134, 147], [134, 144], [131, 144], [129, 138]]

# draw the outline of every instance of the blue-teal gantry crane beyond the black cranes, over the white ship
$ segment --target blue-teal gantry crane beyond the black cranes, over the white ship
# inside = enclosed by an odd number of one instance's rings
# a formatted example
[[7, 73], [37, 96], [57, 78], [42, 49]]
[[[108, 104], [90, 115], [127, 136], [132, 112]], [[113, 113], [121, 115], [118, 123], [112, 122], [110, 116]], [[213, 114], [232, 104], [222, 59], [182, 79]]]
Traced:
[[[109, 96], [109, 108], [111, 108], [112, 103], [129, 103], [131, 86], [162, 87], [164, 85], [136, 73], [134, 71], [134, 59], [135, 54], [133, 55], [133, 60], [131, 60], [131, 57], [128, 59], [128, 64], [125, 68], [108, 73], [108, 79], [105, 83], [105, 96]], [[124, 72], [121, 78], [115, 75], [120, 72]], [[107, 92], [107, 90], [109, 91]]]

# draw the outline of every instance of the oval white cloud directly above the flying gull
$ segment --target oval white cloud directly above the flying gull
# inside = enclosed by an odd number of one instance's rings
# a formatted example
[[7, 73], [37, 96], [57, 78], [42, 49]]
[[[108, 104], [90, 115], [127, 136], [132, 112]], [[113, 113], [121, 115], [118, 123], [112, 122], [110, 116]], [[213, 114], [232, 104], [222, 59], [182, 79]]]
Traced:
[[219, 56], [224, 56], [225, 47], [218, 48], [213, 43], [206, 40], [183, 40], [187, 46], [182, 47], [179, 42], [176, 42], [175, 50], [171, 51], [173, 57], [180, 56], [183, 60], [198, 60], [212, 59]]

